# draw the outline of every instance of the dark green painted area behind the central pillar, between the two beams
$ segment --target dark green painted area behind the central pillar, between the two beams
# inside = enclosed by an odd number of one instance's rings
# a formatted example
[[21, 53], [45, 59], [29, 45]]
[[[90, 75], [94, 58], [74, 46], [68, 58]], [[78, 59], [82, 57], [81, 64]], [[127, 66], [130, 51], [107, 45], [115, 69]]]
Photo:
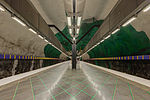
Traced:
[[[95, 21], [93, 23], [82, 23], [82, 26], [80, 28], [80, 32], [79, 32], [79, 37], [77, 39], [80, 39], [93, 25], [101, 25], [103, 22], [103, 20], [100, 21]], [[84, 49], [84, 47], [87, 45], [87, 43], [89, 42], [89, 40], [93, 37], [93, 35], [95, 34], [95, 32], [98, 30], [98, 28], [94, 28], [78, 45], [77, 45], [77, 50], [81, 50]], [[62, 31], [70, 40], [72, 39], [69, 31], [68, 31], [68, 26], [65, 27], [65, 29]], [[58, 38], [58, 40], [61, 42], [61, 44], [63, 45], [63, 47], [67, 50], [67, 51], [71, 51], [72, 46], [71, 44], [60, 34], [57, 33], [56, 37]]]

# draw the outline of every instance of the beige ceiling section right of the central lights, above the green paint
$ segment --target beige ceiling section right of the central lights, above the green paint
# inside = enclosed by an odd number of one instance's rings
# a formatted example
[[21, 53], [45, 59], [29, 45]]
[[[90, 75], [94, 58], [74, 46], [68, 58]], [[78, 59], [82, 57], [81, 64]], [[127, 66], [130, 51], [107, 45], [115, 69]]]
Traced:
[[83, 19], [96, 18], [103, 20], [118, 0], [86, 0]]

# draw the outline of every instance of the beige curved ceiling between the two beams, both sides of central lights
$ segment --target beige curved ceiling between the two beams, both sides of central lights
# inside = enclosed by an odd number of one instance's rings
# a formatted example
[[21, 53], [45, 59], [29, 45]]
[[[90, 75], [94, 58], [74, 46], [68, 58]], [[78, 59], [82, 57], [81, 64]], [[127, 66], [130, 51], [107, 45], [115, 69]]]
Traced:
[[[72, 0], [30, 0], [48, 24], [63, 30], [66, 26], [66, 13], [72, 11]], [[118, 0], [77, 0], [77, 12], [83, 20], [96, 18], [103, 20]], [[53, 30], [54, 33], [57, 31]]]

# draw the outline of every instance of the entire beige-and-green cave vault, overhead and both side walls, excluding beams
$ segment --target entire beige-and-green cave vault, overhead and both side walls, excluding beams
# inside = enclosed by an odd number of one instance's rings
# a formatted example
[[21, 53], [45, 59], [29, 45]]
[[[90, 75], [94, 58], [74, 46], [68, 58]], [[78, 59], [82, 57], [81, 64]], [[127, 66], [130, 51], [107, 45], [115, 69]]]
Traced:
[[[67, 15], [66, 12], [68, 11], [66, 10], [66, 8], [69, 9], [69, 7], [66, 7], [66, 5], [64, 4], [65, 2], [68, 1], [67, 3], [70, 2], [70, 6], [71, 6], [71, 0], [30, 0], [30, 1], [33, 3], [34, 7], [38, 10], [38, 12], [41, 14], [41, 16], [48, 24], [56, 25], [57, 27], [59, 27], [60, 30], [63, 31], [63, 33], [65, 33], [65, 35], [68, 38], [71, 38], [68, 32], [67, 20], [66, 20], [66, 15]], [[84, 2], [84, 0], [80, 0], [80, 1]], [[102, 24], [103, 20], [109, 14], [109, 12], [117, 3], [117, 1], [118, 0], [92, 0], [92, 1], [85, 0], [84, 10], [82, 14], [83, 21], [82, 21], [79, 37], [81, 37], [93, 25]], [[88, 55], [85, 58], [120, 56], [120, 55], [128, 55], [128, 54], [130, 55], [134, 53], [139, 53], [143, 49], [147, 50], [149, 48], [149, 38], [150, 38], [150, 30], [148, 27], [150, 25], [149, 14], [150, 12], [140, 13], [138, 15], [138, 19], [133, 23], [131, 23], [130, 26], [128, 26], [127, 28], [121, 28], [121, 32], [117, 33], [116, 35], [113, 35], [108, 41], [104, 42], [104, 44], [93, 49], [91, 52], [88, 53]], [[10, 15], [6, 13], [1, 13], [1, 26], [2, 26], [1, 33], [0, 33], [1, 37], [5, 37], [6, 40], [11, 42], [11, 44], [10, 43], [3, 44], [3, 42], [1, 42], [0, 44], [1, 48], [3, 48], [4, 45], [6, 47], [5, 49], [1, 49], [1, 53], [5, 52], [11, 54], [16, 52], [16, 54], [21, 54], [21, 55], [34, 54], [37, 56], [44, 56], [45, 54], [46, 57], [62, 57], [62, 58], [64, 57], [59, 51], [54, 49], [46, 42], [40, 40], [32, 32], [28, 31], [27, 29], [23, 29], [21, 26], [19, 26], [16, 22], [14, 22], [10, 18]], [[10, 29], [11, 26], [14, 27]], [[17, 27], [17, 30], [14, 31], [15, 27]], [[7, 29], [9, 28], [9, 30], [4, 30], [5, 28]], [[81, 43], [77, 46], [78, 52], [83, 50], [87, 42], [91, 39], [91, 37], [95, 34], [97, 30], [98, 28], [94, 28], [89, 33], [89, 35], [85, 37], [83, 41], [81, 41]], [[71, 45], [69, 45], [69, 43], [62, 37], [60, 33], [58, 33], [57, 30], [53, 29], [53, 31], [55, 36], [63, 44], [64, 48], [68, 52], [70, 52]], [[8, 36], [12, 36], [12, 37], [9, 38]], [[131, 37], [130, 39], [132, 41], [124, 41], [126, 38], [129, 37]], [[0, 40], [4, 41], [3, 39]], [[121, 42], [119, 42], [118, 40], [120, 40]], [[135, 47], [132, 46], [133, 48], [128, 47], [129, 44], [131, 46], [131, 43], [134, 41], [137, 41], [140, 45], [137, 45]], [[146, 41], [146, 42], [142, 44], [143, 43], [142, 41]], [[113, 46], [114, 45], [113, 43], [116, 44], [116, 46]], [[16, 46], [18, 46], [17, 44], [21, 44], [21, 45], [16, 48]], [[127, 47], [124, 44], [126, 44]], [[130, 51], [128, 49], [129, 51], [128, 53], [126, 53], [125, 51], [127, 50], [123, 49], [122, 52], [119, 53], [117, 52], [117, 50], [120, 50], [119, 49], [120, 45], [122, 45], [123, 48], [129, 48], [132, 50]], [[137, 47], [139, 49], [137, 49]], [[7, 48], [12, 48], [12, 50], [8, 50]], [[145, 54], [147, 52], [149, 52], [149, 49], [148, 51], [145, 52]]]

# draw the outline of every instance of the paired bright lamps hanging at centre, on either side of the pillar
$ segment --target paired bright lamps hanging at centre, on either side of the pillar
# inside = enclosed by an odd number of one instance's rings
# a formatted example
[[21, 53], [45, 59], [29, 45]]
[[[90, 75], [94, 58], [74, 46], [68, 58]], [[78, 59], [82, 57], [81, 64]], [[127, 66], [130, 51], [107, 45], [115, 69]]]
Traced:
[[[80, 29], [79, 29], [79, 27], [80, 27], [80, 25], [81, 25], [81, 20], [82, 20], [82, 17], [78, 17], [77, 18], [77, 29], [76, 29], [76, 33], [77, 34], [79, 34], [79, 31], [80, 31]], [[67, 21], [68, 21], [68, 26], [69, 26], [69, 33], [70, 34], [72, 34], [72, 17], [67, 17]]]

